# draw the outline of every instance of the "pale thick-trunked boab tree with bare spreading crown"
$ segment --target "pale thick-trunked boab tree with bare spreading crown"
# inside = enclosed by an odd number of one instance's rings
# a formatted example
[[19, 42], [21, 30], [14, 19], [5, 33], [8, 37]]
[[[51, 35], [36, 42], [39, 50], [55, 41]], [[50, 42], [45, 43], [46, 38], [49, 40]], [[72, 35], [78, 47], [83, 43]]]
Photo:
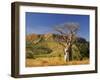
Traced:
[[72, 45], [76, 40], [77, 31], [79, 30], [78, 23], [64, 23], [55, 26], [54, 30], [60, 34], [58, 42], [64, 46], [64, 60], [72, 61]]

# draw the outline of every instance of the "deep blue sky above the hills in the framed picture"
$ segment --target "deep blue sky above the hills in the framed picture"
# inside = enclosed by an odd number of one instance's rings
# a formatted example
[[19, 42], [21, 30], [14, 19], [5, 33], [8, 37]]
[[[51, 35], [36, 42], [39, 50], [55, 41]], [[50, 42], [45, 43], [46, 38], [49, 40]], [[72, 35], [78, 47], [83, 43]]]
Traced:
[[89, 40], [89, 15], [51, 14], [26, 12], [26, 34], [54, 32], [54, 26], [66, 22], [80, 25], [78, 36]]

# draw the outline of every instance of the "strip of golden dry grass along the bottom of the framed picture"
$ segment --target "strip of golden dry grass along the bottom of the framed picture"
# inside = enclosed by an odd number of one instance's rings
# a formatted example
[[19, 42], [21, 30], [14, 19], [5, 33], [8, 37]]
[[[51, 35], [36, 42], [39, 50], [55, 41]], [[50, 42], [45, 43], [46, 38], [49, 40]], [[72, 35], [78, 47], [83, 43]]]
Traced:
[[26, 67], [80, 65], [80, 64], [89, 64], [89, 60], [87, 59], [82, 61], [65, 62], [63, 58], [59, 57], [26, 59]]

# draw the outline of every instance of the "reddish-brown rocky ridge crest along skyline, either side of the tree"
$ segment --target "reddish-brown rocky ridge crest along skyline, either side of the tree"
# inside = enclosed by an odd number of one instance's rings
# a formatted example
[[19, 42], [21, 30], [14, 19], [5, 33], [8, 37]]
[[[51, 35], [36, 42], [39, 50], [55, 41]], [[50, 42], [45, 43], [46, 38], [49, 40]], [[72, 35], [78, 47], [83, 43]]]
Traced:
[[[59, 38], [58, 38], [59, 36]], [[47, 33], [47, 34], [29, 34], [29, 35], [26, 35], [26, 40], [28, 41], [32, 41], [32, 40], [37, 40], [39, 38], [42, 38], [42, 40], [48, 40], [48, 41], [54, 41], [54, 40], [57, 40], [59, 39], [59, 41], [61, 40], [62, 41], [62, 36], [59, 35], [59, 34], [52, 34], [52, 33]], [[82, 37], [77, 37], [77, 41], [80, 42], [80, 43], [86, 43], [87, 41], [82, 38]]]

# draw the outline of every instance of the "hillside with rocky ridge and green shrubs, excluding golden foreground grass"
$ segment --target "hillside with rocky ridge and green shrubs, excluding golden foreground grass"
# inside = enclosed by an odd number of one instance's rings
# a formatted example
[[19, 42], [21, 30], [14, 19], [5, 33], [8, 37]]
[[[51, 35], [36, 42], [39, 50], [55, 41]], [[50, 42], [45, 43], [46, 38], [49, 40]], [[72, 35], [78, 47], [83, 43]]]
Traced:
[[[60, 36], [59, 38], [57, 36]], [[29, 34], [26, 36], [26, 57], [61, 57], [64, 56], [64, 47], [58, 41], [63, 41], [58, 34]], [[63, 42], [64, 44], [65, 42]], [[77, 38], [77, 44], [73, 45], [73, 58], [80, 59], [89, 56], [88, 42], [81, 37]]]

